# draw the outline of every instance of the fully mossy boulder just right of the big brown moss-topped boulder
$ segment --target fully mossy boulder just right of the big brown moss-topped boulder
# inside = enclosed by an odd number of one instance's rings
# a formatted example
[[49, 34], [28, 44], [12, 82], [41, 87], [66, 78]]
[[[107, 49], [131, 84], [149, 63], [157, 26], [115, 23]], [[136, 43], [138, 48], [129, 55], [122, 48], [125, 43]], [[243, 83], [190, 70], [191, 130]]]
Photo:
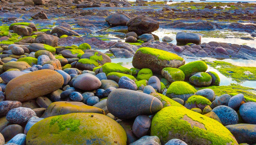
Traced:
[[195, 62], [189, 62], [183, 66], [180, 66], [179, 69], [185, 74], [185, 79], [189, 79], [192, 75], [198, 72], [206, 72], [208, 66], [205, 62], [199, 60]]

